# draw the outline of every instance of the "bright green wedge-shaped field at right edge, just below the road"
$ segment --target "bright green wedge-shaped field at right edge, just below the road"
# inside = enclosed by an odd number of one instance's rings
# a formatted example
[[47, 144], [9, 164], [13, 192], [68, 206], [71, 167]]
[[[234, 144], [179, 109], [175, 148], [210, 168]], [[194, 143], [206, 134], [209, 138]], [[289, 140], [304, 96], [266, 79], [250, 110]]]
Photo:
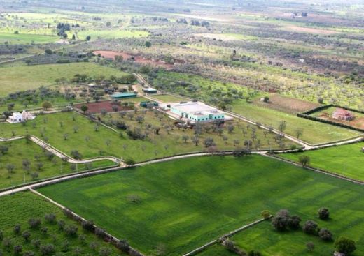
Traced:
[[309, 156], [311, 158], [309, 165], [312, 167], [364, 181], [364, 152], [360, 151], [362, 147], [364, 142], [302, 153], [286, 153], [280, 156], [296, 162], [302, 155]]

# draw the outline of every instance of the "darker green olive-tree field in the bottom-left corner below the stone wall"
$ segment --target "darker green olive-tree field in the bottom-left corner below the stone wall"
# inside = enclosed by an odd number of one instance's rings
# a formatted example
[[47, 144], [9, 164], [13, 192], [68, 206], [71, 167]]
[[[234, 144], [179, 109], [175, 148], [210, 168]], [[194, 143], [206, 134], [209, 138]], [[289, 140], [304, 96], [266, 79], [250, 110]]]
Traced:
[[[41, 255], [47, 251], [62, 255], [99, 255], [107, 251], [107, 255], [120, 255], [113, 245], [84, 231], [81, 225], [66, 218], [57, 206], [33, 193], [1, 197], [0, 213], [0, 229], [3, 235], [0, 252], [3, 255], [16, 255], [15, 246], [18, 250], [21, 248], [22, 255], [27, 252]], [[45, 215], [50, 214], [54, 219], [45, 220]], [[41, 224], [31, 227], [30, 219], [40, 220]], [[76, 227], [76, 234], [67, 235], [66, 231], [59, 229], [57, 222], [64, 222], [64, 230]], [[20, 226], [19, 234], [14, 231], [17, 225]]]

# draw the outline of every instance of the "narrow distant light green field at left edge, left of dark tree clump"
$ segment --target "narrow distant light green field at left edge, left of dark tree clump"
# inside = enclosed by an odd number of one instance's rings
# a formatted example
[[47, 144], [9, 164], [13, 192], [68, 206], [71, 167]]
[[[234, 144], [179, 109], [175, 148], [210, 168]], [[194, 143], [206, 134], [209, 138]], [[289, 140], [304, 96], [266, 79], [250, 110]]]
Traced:
[[30, 33], [0, 33], [0, 43], [26, 45], [30, 43], [52, 43], [59, 40], [57, 36], [34, 35]]

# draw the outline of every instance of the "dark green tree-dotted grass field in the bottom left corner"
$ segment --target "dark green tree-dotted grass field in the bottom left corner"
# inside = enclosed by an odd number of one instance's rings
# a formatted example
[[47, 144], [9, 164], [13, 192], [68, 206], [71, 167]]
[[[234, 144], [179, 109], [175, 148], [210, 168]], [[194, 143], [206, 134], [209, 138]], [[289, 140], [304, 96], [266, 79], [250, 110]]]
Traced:
[[[100, 248], [109, 248], [112, 252], [111, 255], [120, 255], [119, 251], [110, 243], [105, 243], [102, 239], [90, 232], [84, 232], [82, 227], [74, 220], [66, 218], [62, 211], [46, 201], [38, 195], [33, 193], [16, 193], [15, 195], [8, 195], [0, 199], [0, 229], [3, 232], [4, 239], [10, 239], [11, 246], [8, 251], [3, 243], [0, 245], [0, 251], [3, 255], [13, 255], [13, 247], [17, 245], [22, 246], [23, 253], [26, 251], [33, 251], [37, 255], [41, 255], [40, 251], [34, 248], [31, 243], [32, 240], [39, 239], [41, 245], [52, 244], [55, 246], [57, 253], [62, 252], [63, 244], [69, 242], [69, 251], [62, 253], [62, 255], [73, 255], [76, 248], [79, 248], [83, 255], [99, 255]], [[50, 224], [45, 221], [45, 214], [54, 213], [56, 220], [64, 220], [66, 227], [69, 225], [76, 225], [78, 227], [78, 236], [70, 238], [66, 236], [64, 231], [59, 230], [57, 224]], [[31, 229], [28, 223], [30, 218], [40, 218], [41, 227]], [[13, 228], [15, 225], [20, 225], [20, 234], [15, 234]], [[41, 229], [48, 228], [47, 234], [43, 234]], [[22, 232], [28, 231], [30, 233], [29, 242], [26, 242], [22, 237]], [[83, 242], [80, 237], [84, 236]], [[96, 250], [90, 248], [90, 243], [97, 244]]]

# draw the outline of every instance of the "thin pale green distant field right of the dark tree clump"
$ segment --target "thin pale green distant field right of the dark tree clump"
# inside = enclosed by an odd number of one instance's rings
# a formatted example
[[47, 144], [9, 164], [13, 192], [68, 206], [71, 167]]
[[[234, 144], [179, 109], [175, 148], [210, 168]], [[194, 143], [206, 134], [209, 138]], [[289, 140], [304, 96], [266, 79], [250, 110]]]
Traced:
[[97, 38], [140, 38], [148, 36], [146, 31], [130, 31], [130, 30], [86, 30], [79, 31], [78, 37], [83, 40], [87, 36], [91, 36], [91, 40]]

